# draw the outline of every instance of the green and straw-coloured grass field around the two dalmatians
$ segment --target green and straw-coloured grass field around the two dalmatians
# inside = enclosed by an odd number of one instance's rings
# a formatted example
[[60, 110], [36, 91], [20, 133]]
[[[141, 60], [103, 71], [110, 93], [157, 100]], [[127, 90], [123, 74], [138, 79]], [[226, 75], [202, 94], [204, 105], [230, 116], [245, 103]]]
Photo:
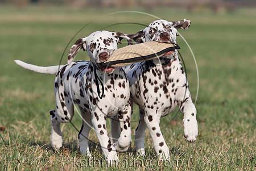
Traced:
[[[57, 65], [69, 40], [90, 21], [92, 23], [72, 43], [111, 24], [134, 22], [147, 25], [154, 20], [151, 16], [134, 13], [106, 15], [113, 11], [120, 10], [0, 7], [1, 170], [106, 169], [105, 165], [86, 165], [88, 159], [79, 152], [78, 132], [71, 124], [61, 126], [64, 148], [60, 152], [51, 149], [48, 111], [55, 107], [54, 76], [30, 72], [13, 60], [42, 66]], [[119, 153], [119, 160], [126, 163], [113, 169], [125, 168], [126, 165], [128, 170], [255, 170], [255, 10], [238, 10], [232, 14], [212, 14], [209, 11], [191, 14], [175, 9], [139, 11], [170, 21], [192, 20], [191, 27], [180, 33], [193, 49], [199, 68], [200, 88], [196, 102], [199, 136], [195, 143], [187, 143], [183, 137], [183, 114], [173, 112], [161, 120], [162, 133], [171, 152], [168, 166], [157, 165], [152, 140], [146, 131], [147, 156], [137, 157], [132, 141], [131, 152]], [[142, 28], [136, 24], [119, 24], [105, 29], [133, 34]], [[195, 99], [196, 65], [187, 45], [180, 36], [177, 39]], [[125, 40], [122, 42], [122, 45], [126, 44]], [[88, 59], [85, 52], [77, 56], [77, 60], [82, 59]], [[66, 61], [67, 51], [61, 63]], [[138, 120], [137, 107], [132, 119]], [[80, 129], [81, 118], [77, 113], [73, 123]], [[133, 139], [137, 124], [131, 124]], [[89, 138], [98, 142], [93, 131]], [[91, 143], [90, 147], [96, 161], [103, 159], [97, 145]]]

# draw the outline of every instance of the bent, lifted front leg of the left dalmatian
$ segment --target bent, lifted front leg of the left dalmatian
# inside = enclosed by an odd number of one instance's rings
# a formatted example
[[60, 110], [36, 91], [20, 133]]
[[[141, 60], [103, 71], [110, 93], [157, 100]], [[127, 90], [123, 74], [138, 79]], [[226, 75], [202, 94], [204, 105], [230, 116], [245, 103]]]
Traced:
[[118, 118], [121, 126], [121, 133], [117, 141], [114, 143], [115, 149], [119, 152], [125, 152], [131, 143], [131, 105], [127, 105], [125, 110], [118, 111]]

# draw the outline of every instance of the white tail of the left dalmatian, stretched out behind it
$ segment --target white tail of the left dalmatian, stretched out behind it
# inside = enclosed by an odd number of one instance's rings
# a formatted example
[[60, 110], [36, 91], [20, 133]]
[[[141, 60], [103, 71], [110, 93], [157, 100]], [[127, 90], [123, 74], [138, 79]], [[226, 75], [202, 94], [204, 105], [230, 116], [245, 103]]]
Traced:
[[14, 60], [16, 64], [21, 66], [22, 68], [32, 70], [37, 73], [44, 74], [56, 74], [64, 65], [56, 65], [56, 66], [36, 66], [32, 64], [27, 64], [26, 62], [22, 62], [20, 60]]

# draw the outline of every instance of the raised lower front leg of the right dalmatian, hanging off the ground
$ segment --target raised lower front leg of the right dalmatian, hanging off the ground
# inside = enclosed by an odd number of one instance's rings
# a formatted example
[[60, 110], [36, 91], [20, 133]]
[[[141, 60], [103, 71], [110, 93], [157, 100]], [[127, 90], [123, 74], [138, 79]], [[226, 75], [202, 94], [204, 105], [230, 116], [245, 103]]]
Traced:
[[192, 102], [191, 97], [184, 99], [180, 105], [180, 110], [184, 114], [183, 126], [184, 126], [184, 137], [189, 142], [196, 141], [198, 134], [198, 126], [196, 120], [196, 107]]

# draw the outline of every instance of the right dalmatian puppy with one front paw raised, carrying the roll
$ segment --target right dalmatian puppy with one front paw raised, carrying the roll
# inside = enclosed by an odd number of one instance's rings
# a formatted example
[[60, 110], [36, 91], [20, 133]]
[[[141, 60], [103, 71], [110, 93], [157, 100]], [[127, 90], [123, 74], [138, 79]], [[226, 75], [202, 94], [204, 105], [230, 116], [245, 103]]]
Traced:
[[[138, 43], [159, 41], [176, 43], [177, 29], [187, 29], [190, 20], [168, 22], [155, 20], [137, 34], [128, 35]], [[189, 142], [197, 136], [196, 108], [188, 89], [184, 69], [175, 52], [167, 52], [160, 59], [138, 62], [125, 67], [130, 82], [133, 102], [139, 105], [140, 122], [135, 131], [135, 146], [144, 155], [146, 127], [150, 131], [157, 155], [169, 159], [169, 148], [160, 130], [160, 118], [173, 111], [176, 106], [184, 114], [184, 136]]]

